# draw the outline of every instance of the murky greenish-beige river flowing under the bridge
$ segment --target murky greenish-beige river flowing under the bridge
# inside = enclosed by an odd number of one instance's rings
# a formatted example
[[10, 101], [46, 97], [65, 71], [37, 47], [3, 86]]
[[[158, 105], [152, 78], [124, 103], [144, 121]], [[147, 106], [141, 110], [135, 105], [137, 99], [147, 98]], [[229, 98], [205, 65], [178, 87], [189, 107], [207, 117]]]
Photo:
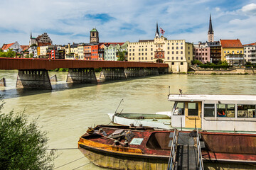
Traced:
[[[66, 84], [67, 72], [49, 72], [57, 75], [53, 91], [16, 89], [17, 71], [0, 70], [0, 79], [6, 78], [4, 113], [26, 109], [30, 119], [38, 118], [42, 130], [48, 132], [49, 148], [77, 148], [78, 140], [88, 127], [110, 123], [107, 113], [113, 113], [124, 99], [119, 111], [123, 113], [155, 113], [170, 111], [167, 101], [171, 93], [178, 94], [256, 94], [256, 77], [252, 75], [192, 75], [166, 74], [159, 77], [110, 81], [98, 85]], [[97, 74], [98, 75], [98, 74]], [[55, 168], [101, 169], [89, 162], [78, 149], [57, 151]]]

